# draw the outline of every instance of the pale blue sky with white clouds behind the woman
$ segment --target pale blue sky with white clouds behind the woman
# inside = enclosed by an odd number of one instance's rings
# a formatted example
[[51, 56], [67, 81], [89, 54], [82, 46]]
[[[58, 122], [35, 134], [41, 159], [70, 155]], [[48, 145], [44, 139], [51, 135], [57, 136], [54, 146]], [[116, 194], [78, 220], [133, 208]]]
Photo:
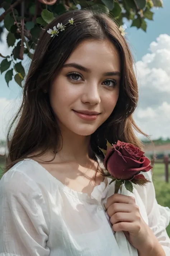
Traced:
[[[140, 95], [134, 119], [152, 139], [170, 137], [170, 1], [164, 0], [164, 8], [154, 9], [154, 12], [154, 21], [148, 21], [146, 33], [135, 27], [127, 29]], [[0, 53], [6, 55], [9, 49], [5, 34], [2, 39]], [[23, 64], [28, 68], [27, 60]], [[5, 139], [21, 94], [14, 81], [7, 87], [4, 73], [0, 75], [0, 139]]]

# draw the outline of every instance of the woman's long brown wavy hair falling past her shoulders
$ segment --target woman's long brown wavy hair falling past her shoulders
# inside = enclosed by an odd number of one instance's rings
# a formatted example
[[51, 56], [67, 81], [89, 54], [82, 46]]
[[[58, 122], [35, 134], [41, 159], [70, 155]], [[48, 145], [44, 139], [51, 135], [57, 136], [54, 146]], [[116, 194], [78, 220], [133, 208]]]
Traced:
[[[66, 24], [71, 18], [74, 19], [74, 26], [67, 27], [55, 37], [47, 33], [49, 28], [58, 23]], [[119, 98], [110, 117], [91, 134], [91, 157], [103, 160], [99, 147], [106, 148], [106, 139], [110, 143], [121, 140], [142, 147], [135, 130], [146, 134], [137, 127], [132, 117], [138, 102], [138, 86], [128, 44], [108, 15], [74, 10], [58, 16], [42, 30], [25, 80], [22, 104], [9, 127], [5, 172], [28, 156], [38, 157], [49, 149], [57, 152], [61, 132], [48, 93], [44, 94], [43, 88], [50, 86], [72, 51], [86, 39], [110, 40], [121, 59]]]

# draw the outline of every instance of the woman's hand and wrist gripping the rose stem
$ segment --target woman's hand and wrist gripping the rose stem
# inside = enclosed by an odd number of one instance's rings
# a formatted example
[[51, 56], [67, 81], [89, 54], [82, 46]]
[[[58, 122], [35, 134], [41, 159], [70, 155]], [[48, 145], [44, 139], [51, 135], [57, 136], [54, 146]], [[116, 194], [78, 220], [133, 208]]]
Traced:
[[152, 250], [155, 235], [143, 220], [135, 199], [122, 194], [114, 194], [105, 205], [113, 231], [123, 231], [138, 251]]

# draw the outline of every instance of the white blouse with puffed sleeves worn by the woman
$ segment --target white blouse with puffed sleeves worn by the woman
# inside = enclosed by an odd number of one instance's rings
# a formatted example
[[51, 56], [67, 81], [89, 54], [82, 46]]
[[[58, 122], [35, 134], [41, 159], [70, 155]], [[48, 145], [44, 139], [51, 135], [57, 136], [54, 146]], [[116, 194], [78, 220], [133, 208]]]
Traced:
[[[151, 172], [145, 176], [152, 179]], [[63, 185], [34, 160], [17, 163], [0, 180], [0, 256], [137, 256], [124, 233], [112, 231], [105, 213], [104, 203], [114, 193], [108, 181], [88, 196]], [[153, 183], [134, 185], [133, 194], [123, 187], [122, 194], [135, 197], [170, 256], [170, 209], [157, 204]]]

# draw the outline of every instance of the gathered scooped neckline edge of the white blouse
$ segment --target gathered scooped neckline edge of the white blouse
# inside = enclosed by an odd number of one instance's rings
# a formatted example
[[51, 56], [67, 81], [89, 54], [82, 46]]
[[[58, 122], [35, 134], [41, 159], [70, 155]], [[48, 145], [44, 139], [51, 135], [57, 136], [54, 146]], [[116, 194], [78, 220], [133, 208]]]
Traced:
[[108, 179], [107, 177], [104, 177], [104, 180], [100, 182], [99, 185], [94, 186], [93, 191], [91, 192], [90, 196], [88, 193], [79, 192], [72, 188], [67, 187], [67, 185], [63, 184], [60, 180], [58, 180], [56, 177], [54, 177], [46, 168], [44, 168], [40, 163], [38, 163], [36, 160], [33, 160], [32, 158], [25, 158], [24, 160], [29, 160], [34, 162], [41, 170], [46, 172], [46, 175], [48, 175], [49, 179], [53, 180], [55, 183], [57, 183], [58, 187], [63, 190], [63, 192], [70, 194], [72, 197], [76, 197], [85, 201], [101, 201], [102, 194], [108, 187]]

